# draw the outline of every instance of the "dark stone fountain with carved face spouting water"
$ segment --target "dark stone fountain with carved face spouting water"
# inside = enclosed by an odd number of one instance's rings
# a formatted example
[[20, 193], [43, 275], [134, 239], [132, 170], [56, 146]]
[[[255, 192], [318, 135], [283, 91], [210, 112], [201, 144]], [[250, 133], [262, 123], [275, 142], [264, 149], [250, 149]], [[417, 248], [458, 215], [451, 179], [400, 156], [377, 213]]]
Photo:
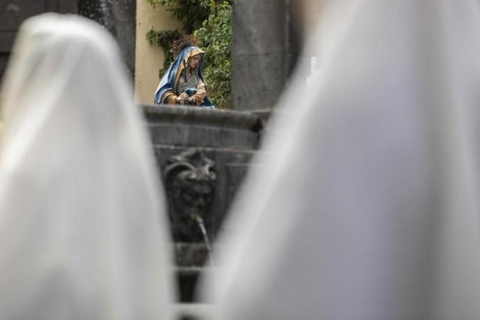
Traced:
[[[194, 302], [198, 275], [262, 133], [259, 116], [186, 106], [144, 106], [175, 240], [179, 303]], [[183, 312], [185, 313], [185, 312]]]

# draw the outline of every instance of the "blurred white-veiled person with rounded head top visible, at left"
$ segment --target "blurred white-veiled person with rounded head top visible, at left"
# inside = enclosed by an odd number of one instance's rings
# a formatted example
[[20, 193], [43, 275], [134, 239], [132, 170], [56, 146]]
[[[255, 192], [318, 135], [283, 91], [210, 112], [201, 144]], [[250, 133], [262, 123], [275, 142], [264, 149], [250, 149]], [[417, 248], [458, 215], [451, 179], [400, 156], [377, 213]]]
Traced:
[[19, 31], [4, 79], [1, 319], [171, 319], [163, 195], [112, 38], [79, 17]]

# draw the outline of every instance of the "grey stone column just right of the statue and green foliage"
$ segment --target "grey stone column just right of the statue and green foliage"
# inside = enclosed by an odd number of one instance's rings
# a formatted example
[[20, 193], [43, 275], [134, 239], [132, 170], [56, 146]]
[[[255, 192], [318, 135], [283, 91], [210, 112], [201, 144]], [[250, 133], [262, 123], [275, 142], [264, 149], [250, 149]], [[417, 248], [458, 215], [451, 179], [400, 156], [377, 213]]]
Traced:
[[237, 0], [233, 10], [232, 109], [271, 111], [296, 61], [288, 0]]

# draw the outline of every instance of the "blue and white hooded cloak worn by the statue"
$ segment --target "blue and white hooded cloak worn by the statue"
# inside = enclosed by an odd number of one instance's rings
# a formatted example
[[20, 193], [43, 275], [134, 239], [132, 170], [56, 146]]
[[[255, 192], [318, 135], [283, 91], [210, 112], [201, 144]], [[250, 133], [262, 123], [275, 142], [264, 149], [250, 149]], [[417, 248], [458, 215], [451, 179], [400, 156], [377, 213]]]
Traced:
[[[198, 47], [189, 46], [180, 51], [175, 61], [168, 68], [167, 72], [161, 77], [159, 86], [155, 91], [154, 104], [168, 104], [168, 97], [170, 95], [179, 95], [179, 77], [182, 71], [188, 65], [189, 58], [200, 54], [200, 63], [198, 63], [198, 78], [203, 82], [202, 64], [204, 51]], [[187, 88], [184, 90], [188, 95], [195, 94], [196, 88]], [[205, 96], [200, 106], [207, 109], [215, 109], [209, 98]]]

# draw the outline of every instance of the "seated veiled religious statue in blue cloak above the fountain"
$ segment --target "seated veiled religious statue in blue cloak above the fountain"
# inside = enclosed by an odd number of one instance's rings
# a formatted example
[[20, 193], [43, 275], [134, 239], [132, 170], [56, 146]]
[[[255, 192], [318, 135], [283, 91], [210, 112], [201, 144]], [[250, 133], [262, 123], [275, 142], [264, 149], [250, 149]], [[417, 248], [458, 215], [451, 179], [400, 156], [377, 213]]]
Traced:
[[184, 41], [177, 46], [179, 54], [163, 74], [155, 91], [155, 104], [182, 104], [215, 109], [207, 97], [202, 77], [205, 51]]

